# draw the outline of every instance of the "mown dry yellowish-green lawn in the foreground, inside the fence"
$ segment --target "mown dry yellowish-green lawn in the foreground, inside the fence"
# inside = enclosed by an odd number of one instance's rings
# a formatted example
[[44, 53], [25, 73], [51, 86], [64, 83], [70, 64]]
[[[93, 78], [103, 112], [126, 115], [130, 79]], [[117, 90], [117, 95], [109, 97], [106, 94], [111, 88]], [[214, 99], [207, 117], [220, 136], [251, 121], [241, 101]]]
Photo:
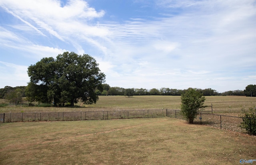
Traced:
[[0, 128], [0, 164], [6, 165], [231, 165], [256, 159], [255, 136], [173, 118], [1, 123]]

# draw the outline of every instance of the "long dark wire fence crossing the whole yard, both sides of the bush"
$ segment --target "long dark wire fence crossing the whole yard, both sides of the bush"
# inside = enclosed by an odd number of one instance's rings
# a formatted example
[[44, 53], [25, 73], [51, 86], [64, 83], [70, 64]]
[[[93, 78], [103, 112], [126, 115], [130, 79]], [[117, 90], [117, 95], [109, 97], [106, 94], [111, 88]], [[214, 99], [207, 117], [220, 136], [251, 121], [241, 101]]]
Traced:
[[[30, 121], [68, 121], [68, 120], [109, 120], [129, 118], [159, 118], [170, 117], [185, 120], [180, 110], [116, 110], [96, 112], [34, 112], [34, 113], [4, 113], [0, 114], [0, 122], [30, 122]], [[255, 120], [255, 119], [252, 119]], [[204, 124], [216, 128], [245, 132], [240, 128], [242, 117], [212, 114], [212, 111], [199, 112], [195, 124]], [[254, 121], [256, 122], [256, 121]], [[250, 132], [249, 132], [250, 133]]]

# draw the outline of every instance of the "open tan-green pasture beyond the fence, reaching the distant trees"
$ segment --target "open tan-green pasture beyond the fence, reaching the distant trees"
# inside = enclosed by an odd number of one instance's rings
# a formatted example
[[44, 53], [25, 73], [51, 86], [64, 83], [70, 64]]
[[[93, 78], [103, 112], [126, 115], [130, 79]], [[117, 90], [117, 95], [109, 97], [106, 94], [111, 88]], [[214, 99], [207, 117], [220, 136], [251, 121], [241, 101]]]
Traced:
[[[0, 99], [0, 103], [7, 102]], [[74, 111], [102, 111], [102, 110], [143, 110], [143, 109], [180, 109], [180, 96], [99, 96], [96, 104], [77, 104], [76, 108], [68, 107], [22, 107], [7, 106], [0, 107], [0, 113], [20, 113], [20, 112], [74, 112]], [[220, 113], [240, 113], [242, 108], [248, 110], [249, 107], [256, 106], [256, 97], [245, 96], [206, 96], [204, 105], [213, 105], [213, 112]], [[205, 110], [211, 110], [210, 107]]]

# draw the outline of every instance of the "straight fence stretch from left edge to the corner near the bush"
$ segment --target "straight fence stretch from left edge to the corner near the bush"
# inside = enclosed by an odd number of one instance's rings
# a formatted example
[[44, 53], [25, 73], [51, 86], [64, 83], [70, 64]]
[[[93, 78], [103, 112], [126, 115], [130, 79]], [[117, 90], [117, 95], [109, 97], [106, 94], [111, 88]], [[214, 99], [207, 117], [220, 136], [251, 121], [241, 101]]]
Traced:
[[[67, 121], [67, 120], [108, 120], [127, 118], [165, 117], [167, 109], [161, 110], [115, 110], [86, 112], [28, 112], [0, 114], [0, 122]], [[174, 110], [175, 111], [175, 110]]]

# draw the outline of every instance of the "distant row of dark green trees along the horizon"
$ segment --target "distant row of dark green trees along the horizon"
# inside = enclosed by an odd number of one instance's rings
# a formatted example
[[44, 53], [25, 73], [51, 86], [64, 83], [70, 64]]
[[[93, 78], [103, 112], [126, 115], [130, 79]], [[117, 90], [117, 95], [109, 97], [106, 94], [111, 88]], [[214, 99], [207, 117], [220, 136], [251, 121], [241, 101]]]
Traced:
[[[20, 93], [20, 97], [26, 97], [27, 86], [5, 86], [0, 88], [0, 99], [6, 98], [11, 100], [14, 97], [14, 93]], [[248, 85], [245, 90], [229, 90], [226, 92], [219, 93], [211, 88], [200, 89], [196, 88], [196, 91], [202, 93], [204, 96], [256, 96], [256, 85]], [[152, 88], [150, 90], [146, 88], [122, 88], [122, 87], [111, 87], [109, 84], [100, 84], [99, 87], [94, 89], [94, 92], [98, 96], [144, 96], [144, 95], [162, 95], [162, 96], [181, 96], [182, 93], [186, 92], [186, 89], [173, 89], [173, 88]], [[19, 94], [18, 94], [19, 95]], [[19, 97], [16, 97], [16, 100]], [[14, 100], [12, 100], [13, 102]]]

